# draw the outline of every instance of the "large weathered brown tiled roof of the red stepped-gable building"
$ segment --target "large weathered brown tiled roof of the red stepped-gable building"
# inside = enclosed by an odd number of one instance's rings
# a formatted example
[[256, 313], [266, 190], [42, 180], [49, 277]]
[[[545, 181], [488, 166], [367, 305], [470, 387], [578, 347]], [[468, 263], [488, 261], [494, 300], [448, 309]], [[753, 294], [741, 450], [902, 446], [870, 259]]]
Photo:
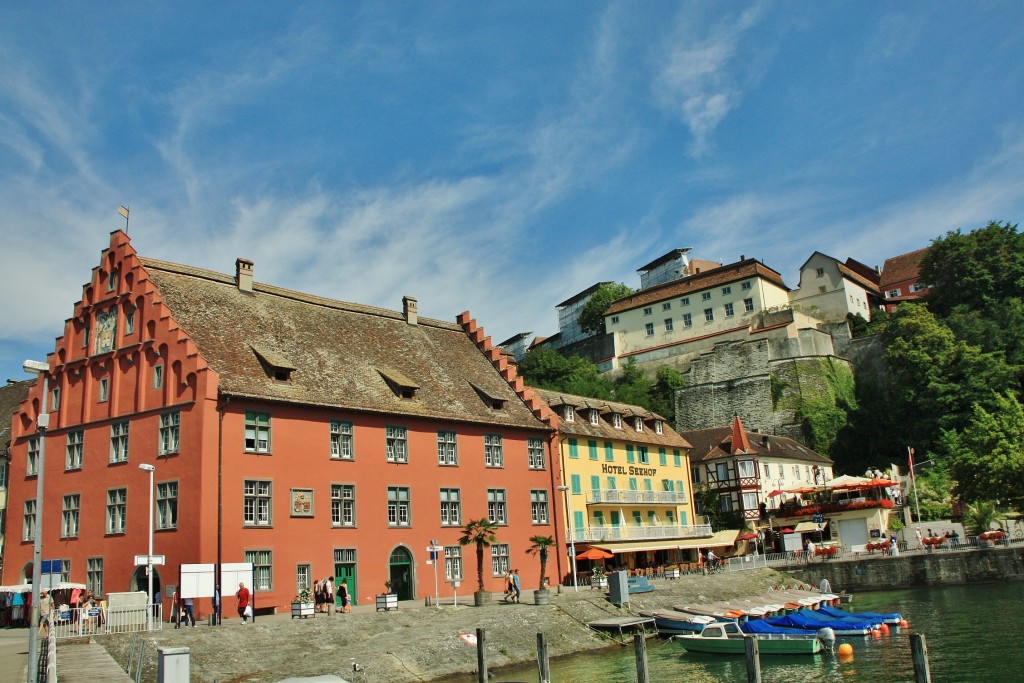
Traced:
[[[228, 275], [141, 261], [225, 394], [548, 429], [457, 324], [420, 316], [409, 325], [397, 311], [260, 283], [250, 294]], [[294, 366], [290, 381], [271, 379], [254, 349]], [[415, 398], [399, 397], [384, 374], [415, 386]], [[504, 407], [494, 409], [480, 391]]]

